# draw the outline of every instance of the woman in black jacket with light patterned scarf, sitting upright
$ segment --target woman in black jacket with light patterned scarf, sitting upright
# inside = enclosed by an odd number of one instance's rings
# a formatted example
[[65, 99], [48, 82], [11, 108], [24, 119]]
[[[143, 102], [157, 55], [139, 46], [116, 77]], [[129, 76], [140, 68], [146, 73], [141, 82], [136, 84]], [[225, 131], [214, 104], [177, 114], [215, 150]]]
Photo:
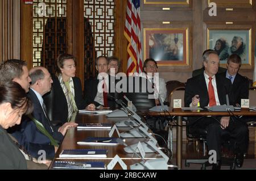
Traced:
[[64, 124], [73, 121], [78, 110], [95, 110], [94, 104], [89, 104], [82, 96], [81, 81], [75, 77], [75, 57], [71, 54], [60, 54], [57, 58], [56, 75], [57, 77], [52, 77], [53, 120]]

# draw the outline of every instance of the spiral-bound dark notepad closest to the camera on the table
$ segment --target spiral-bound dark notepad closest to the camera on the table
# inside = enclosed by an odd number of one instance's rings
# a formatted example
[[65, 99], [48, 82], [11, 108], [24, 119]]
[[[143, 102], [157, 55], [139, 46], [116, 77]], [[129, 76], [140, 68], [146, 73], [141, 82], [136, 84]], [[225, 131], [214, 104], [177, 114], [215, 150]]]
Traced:
[[53, 169], [93, 169], [105, 170], [106, 165], [104, 162], [68, 162], [68, 161], [55, 161], [52, 165]]

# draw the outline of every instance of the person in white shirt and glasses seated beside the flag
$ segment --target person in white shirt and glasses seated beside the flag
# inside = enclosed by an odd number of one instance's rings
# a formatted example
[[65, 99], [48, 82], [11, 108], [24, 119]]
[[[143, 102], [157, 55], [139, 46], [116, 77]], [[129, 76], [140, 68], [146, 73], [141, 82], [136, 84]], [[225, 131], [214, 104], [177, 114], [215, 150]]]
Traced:
[[[156, 61], [153, 58], [148, 58], [144, 61], [143, 71], [144, 71], [144, 73], [146, 73], [146, 77], [152, 83], [152, 80], [154, 80], [155, 73], [158, 71], [158, 64], [156, 63]], [[166, 99], [166, 94], [167, 94], [166, 82], [164, 81], [163, 78], [160, 78], [158, 76], [155, 76], [155, 78], [159, 78], [158, 79], [159, 85], [156, 85], [156, 82], [152, 83], [152, 84], [155, 84], [155, 86], [154, 86], [155, 102], [156, 102], [156, 104], [159, 104], [159, 100], [158, 100], [159, 95], [163, 102]], [[157, 80], [155, 80], [155, 81], [157, 81]]]

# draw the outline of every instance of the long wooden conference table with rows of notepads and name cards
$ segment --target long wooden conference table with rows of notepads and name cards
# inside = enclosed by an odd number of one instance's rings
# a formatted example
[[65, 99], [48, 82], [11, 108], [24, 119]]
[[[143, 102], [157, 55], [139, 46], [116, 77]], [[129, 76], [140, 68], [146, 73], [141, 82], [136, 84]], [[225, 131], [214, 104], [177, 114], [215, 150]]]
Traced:
[[[76, 123], [111, 123], [114, 125], [114, 123], [117, 123], [118, 121], [125, 120], [127, 117], [106, 117], [105, 114], [94, 114], [94, 113], [77, 113], [75, 122]], [[125, 132], [129, 131], [131, 128], [129, 127], [118, 127], [118, 131]], [[59, 158], [60, 153], [63, 150], [67, 149], [106, 149], [108, 150], [107, 158], [82, 158], [86, 161], [103, 161], [106, 163], [106, 165], [112, 161], [112, 159], [115, 157], [115, 155], [118, 155], [123, 162], [126, 163], [127, 166], [132, 165], [137, 162], [141, 162], [142, 159], [137, 157], [133, 153], [126, 153], [123, 148], [125, 146], [123, 145], [78, 145], [77, 142], [84, 140], [86, 137], [109, 137], [110, 129], [77, 129], [77, 128], [71, 128], [67, 131], [65, 134], [64, 140], [62, 144], [59, 146], [59, 149], [57, 150], [55, 154], [55, 158], [53, 161], [61, 161], [64, 160], [64, 158]], [[118, 137], [118, 134], [114, 132], [112, 137]], [[145, 141], [144, 138], [125, 138], [125, 143], [127, 145], [133, 145], [137, 144], [139, 141], [143, 142]], [[159, 154], [156, 153], [146, 153], [145, 157], [147, 159], [156, 159], [161, 158]], [[81, 159], [66, 159], [68, 161], [81, 161]], [[53, 163], [53, 162], [52, 162]], [[52, 169], [52, 163], [50, 166], [50, 169]], [[114, 167], [114, 169], [120, 169], [120, 167]]]

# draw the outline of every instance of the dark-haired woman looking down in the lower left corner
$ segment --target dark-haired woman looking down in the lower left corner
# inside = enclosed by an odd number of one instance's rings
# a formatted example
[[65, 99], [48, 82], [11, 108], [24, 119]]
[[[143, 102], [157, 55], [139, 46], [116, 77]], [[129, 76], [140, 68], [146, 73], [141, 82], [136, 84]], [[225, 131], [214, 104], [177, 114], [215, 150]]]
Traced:
[[23, 114], [33, 110], [31, 100], [16, 82], [0, 86], [0, 170], [27, 169], [27, 162], [5, 129], [20, 124]]

